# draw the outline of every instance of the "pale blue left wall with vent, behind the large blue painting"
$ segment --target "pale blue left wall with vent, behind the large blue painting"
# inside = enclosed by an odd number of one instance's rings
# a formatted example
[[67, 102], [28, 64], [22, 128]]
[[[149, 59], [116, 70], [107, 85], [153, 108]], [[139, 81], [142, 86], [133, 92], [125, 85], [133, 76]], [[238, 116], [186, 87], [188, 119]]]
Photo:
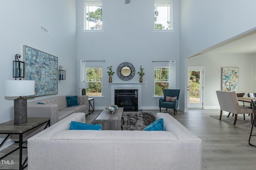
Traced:
[[[16, 54], [23, 56], [22, 45], [58, 57], [58, 65], [67, 72], [66, 80], [58, 83], [57, 95], [28, 102], [76, 94], [76, 0], [1, 0], [0, 21], [0, 123], [12, 119], [13, 100], [4, 97], [4, 80], [14, 80], [12, 61]], [[50, 35], [39, 29], [40, 24]]]

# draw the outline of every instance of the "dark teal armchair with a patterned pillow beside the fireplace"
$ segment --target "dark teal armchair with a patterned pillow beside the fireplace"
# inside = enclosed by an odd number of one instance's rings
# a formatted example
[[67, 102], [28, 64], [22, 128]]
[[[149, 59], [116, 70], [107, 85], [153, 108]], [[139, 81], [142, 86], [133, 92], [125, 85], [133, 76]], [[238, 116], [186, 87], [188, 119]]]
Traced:
[[[177, 97], [177, 99], [174, 100], [174, 102], [166, 102], [165, 101], [166, 96]], [[174, 116], [175, 116], [175, 111], [177, 113], [177, 108], [178, 108], [178, 104], [179, 104], [179, 96], [180, 96], [180, 89], [164, 89], [164, 98], [159, 99], [160, 112], [161, 112], [161, 107], [166, 108], [166, 111], [167, 111], [167, 109], [173, 109]]]

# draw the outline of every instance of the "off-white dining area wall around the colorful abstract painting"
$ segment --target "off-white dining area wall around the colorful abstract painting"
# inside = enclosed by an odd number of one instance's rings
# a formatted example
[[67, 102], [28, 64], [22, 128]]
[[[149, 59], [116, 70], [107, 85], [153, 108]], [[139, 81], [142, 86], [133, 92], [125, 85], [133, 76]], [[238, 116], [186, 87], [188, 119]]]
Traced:
[[222, 90], [222, 67], [239, 68], [238, 92], [255, 92], [255, 54], [202, 54], [188, 59], [188, 66], [204, 66], [204, 108], [219, 107], [216, 90]]

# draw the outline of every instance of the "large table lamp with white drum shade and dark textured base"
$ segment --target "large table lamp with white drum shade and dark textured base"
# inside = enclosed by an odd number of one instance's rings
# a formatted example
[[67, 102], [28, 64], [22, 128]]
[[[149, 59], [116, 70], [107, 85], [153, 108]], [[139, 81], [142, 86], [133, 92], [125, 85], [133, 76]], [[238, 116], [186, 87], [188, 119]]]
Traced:
[[4, 96], [18, 97], [14, 99], [14, 124], [27, 122], [27, 99], [22, 96], [35, 94], [34, 80], [5, 80]]

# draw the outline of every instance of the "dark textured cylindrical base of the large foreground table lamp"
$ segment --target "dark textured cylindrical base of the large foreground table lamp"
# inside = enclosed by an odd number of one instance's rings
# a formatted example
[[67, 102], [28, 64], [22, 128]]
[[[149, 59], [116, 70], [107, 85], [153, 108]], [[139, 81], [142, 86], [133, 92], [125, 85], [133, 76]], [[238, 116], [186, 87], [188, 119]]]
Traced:
[[14, 125], [27, 121], [27, 99], [22, 97], [14, 99]]

